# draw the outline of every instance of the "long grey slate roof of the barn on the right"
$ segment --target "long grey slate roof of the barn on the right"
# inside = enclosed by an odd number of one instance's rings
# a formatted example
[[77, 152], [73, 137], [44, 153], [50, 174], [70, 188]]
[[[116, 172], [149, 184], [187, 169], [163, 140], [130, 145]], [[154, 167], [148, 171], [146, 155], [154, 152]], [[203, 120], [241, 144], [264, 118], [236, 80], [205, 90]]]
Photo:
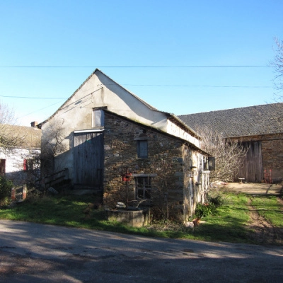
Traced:
[[195, 132], [206, 125], [223, 133], [225, 137], [283, 133], [283, 103], [201, 112], [178, 117]]

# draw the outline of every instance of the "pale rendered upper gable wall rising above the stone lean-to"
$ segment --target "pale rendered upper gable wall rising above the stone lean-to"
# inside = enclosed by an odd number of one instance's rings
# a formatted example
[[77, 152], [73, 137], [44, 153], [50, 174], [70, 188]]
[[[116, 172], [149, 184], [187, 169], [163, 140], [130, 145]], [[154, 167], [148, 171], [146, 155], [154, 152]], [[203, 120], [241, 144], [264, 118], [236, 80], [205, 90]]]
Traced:
[[[180, 137], [200, 147], [199, 139], [192, 137], [189, 129], [186, 131], [184, 127], [180, 128], [178, 123], [172, 122], [172, 119], [168, 120], [172, 115], [151, 107], [98, 69], [50, 119], [54, 117], [55, 120], [61, 121], [64, 123], [64, 129], [71, 132], [91, 129], [93, 108], [104, 107], [118, 115]], [[45, 122], [42, 123], [43, 130], [44, 124]]]

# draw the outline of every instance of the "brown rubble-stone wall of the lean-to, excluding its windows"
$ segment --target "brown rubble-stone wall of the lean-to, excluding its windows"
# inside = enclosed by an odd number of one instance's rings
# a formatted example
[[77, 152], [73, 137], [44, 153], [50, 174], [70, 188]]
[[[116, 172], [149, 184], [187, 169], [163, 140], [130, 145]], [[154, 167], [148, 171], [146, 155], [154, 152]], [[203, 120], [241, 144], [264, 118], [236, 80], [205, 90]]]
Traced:
[[[105, 114], [105, 185], [104, 203], [114, 209], [117, 202], [137, 206], [135, 180], [151, 178], [151, 214], [154, 218], [184, 221], [190, 212], [187, 200], [189, 177], [184, 173], [192, 166], [192, 149], [179, 139], [138, 123]], [[137, 141], [147, 140], [148, 157], [137, 157]], [[129, 182], [123, 173], [132, 173]], [[185, 202], [185, 204], [184, 204]], [[141, 203], [149, 204], [149, 202]], [[185, 210], [184, 210], [185, 209]]]

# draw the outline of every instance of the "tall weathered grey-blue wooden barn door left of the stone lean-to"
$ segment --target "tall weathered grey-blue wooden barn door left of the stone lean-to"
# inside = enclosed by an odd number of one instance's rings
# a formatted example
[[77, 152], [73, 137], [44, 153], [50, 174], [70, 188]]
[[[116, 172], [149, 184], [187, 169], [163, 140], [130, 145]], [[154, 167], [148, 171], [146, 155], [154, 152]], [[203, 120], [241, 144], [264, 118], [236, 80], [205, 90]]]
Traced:
[[74, 185], [103, 188], [103, 132], [74, 134]]

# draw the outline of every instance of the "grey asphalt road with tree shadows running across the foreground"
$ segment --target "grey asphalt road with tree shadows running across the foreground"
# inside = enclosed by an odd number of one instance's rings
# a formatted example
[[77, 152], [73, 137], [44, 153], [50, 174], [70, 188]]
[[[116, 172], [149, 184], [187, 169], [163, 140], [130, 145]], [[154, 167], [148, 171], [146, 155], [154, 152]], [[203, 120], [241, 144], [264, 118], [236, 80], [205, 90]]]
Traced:
[[0, 220], [0, 282], [283, 282], [283, 247]]

